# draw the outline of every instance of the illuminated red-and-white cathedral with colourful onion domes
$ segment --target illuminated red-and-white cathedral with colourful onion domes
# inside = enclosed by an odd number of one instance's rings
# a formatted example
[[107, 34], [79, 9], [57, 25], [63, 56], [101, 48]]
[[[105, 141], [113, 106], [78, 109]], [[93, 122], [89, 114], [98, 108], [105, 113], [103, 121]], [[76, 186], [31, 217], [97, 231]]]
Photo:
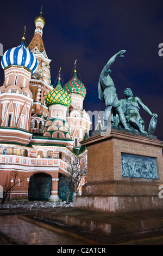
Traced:
[[22, 176], [24, 180], [12, 188], [10, 197], [30, 199], [33, 186], [39, 186], [35, 191], [40, 195], [32, 194], [32, 200], [64, 200], [61, 190], [70, 170], [68, 159], [87, 161], [87, 151], [80, 147], [91, 124], [83, 110], [86, 89], [77, 77], [76, 65], [72, 79], [62, 87], [59, 73], [53, 88], [51, 59], [42, 40], [42, 12], [35, 18], [35, 26], [29, 46], [24, 45], [23, 35], [21, 45], [6, 51], [1, 61], [1, 186], [12, 186], [12, 172], [16, 171], [17, 181]]

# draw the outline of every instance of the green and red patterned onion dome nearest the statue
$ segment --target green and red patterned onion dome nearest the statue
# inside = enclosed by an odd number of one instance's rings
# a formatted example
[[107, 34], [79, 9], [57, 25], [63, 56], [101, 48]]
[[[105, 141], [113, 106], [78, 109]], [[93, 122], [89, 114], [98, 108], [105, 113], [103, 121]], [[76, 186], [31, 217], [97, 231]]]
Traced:
[[74, 72], [72, 79], [65, 84], [64, 89], [68, 93], [77, 93], [85, 98], [86, 88], [84, 84], [78, 79], [76, 72]]

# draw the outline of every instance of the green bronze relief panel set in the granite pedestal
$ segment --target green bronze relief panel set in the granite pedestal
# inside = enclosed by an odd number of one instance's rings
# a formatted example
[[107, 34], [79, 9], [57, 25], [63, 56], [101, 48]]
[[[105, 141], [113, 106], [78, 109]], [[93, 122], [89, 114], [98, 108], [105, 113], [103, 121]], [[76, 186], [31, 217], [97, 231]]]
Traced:
[[158, 178], [156, 158], [121, 153], [122, 177]]

